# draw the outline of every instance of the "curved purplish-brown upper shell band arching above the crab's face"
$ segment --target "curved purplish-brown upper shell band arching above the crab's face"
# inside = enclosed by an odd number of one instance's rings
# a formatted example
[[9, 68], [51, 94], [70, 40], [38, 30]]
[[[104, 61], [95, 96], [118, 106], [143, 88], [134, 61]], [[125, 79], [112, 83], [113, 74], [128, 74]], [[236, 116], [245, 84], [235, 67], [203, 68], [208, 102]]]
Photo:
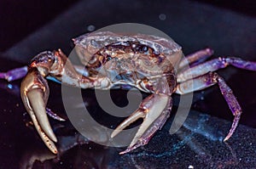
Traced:
[[173, 66], [177, 65], [183, 55], [182, 48], [171, 38], [166, 39], [153, 35], [125, 35], [111, 31], [96, 31], [74, 38], [73, 42], [83, 65], [87, 65], [91, 56], [100, 49], [116, 42], [140, 42], [149, 48], [153, 48], [155, 54], [162, 54], [169, 58]]

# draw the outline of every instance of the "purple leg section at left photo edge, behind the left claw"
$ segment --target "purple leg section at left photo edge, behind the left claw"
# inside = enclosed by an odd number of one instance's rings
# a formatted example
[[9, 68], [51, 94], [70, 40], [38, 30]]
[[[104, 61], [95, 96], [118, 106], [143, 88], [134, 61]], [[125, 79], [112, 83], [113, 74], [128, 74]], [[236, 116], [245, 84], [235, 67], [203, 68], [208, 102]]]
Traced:
[[21, 79], [25, 77], [26, 73], [27, 73], [27, 66], [23, 66], [20, 68], [9, 70], [7, 72], [0, 72], [0, 79], [5, 79], [8, 82], [12, 82], [17, 79]]

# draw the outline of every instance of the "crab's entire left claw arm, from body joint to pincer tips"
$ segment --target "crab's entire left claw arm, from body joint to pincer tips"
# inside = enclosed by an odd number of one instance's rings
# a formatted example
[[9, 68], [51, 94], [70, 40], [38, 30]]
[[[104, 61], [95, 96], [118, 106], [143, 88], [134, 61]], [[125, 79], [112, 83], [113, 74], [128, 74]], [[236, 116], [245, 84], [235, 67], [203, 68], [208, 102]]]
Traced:
[[[61, 52], [61, 49], [38, 54], [28, 66], [28, 72], [21, 82], [21, 99], [44, 144], [54, 154], [57, 154], [58, 151], [55, 147], [57, 138], [50, 127], [47, 116], [47, 114], [53, 115], [51, 110], [46, 108], [49, 97], [49, 87], [45, 79], [47, 76], [73, 87], [91, 87], [93, 81], [80, 75], [67, 59], [67, 56]], [[63, 121], [57, 115], [54, 116], [57, 120]]]

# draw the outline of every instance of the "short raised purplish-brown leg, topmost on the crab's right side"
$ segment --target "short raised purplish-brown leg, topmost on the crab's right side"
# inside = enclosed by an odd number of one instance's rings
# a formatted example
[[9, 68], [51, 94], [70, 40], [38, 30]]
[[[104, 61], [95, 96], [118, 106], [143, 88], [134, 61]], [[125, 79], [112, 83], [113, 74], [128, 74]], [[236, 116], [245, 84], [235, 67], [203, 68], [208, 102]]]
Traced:
[[204, 48], [201, 49], [200, 51], [197, 51], [193, 54], [187, 55], [185, 58], [183, 58], [178, 67], [179, 69], [183, 68], [185, 65], [191, 65], [191, 64], [196, 64], [199, 65], [202, 62], [204, 62], [206, 59], [211, 57], [213, 54], [212, 48]]

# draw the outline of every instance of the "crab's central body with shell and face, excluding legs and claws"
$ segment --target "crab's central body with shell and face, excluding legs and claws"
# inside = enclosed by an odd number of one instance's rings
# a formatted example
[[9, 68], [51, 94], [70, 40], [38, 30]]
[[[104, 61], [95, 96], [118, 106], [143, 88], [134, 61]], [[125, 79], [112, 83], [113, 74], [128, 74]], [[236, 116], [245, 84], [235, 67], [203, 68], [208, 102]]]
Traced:
[[[77, 37], [73, 42], [89, 76], [108, 76], [111, 87], [122, 83], [147, 93], [172, 94], [175, 90], [175, 68], [183, 53], [171, 38], [100, 31]], [[157, 84], [162, 77], [169, 84], [165, 90]]]

